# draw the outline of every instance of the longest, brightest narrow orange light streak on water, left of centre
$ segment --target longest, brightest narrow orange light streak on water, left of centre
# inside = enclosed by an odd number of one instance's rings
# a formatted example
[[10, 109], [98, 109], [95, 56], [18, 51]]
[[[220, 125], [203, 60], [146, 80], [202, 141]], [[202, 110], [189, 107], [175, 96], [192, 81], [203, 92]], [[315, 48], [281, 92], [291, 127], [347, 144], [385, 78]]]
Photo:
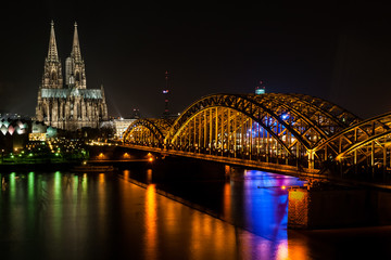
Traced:
[[156, 255], [156, 188], [154, 184], [147, 186], [146, 194], [146, 257], [155, 259]]

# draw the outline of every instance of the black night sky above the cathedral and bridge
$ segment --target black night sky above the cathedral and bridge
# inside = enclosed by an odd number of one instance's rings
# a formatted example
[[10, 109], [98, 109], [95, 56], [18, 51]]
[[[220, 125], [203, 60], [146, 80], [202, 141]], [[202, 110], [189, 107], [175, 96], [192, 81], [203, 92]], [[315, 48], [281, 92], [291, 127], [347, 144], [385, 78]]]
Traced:
[[211, 93], [253, 93], [260, 80], [266, 92], [315, 95], [363, 118], [391, 110], [383, 2], [53, 2], [2, 3], [0, 112], [34, 116], [51, 20], [63, 63], [77, 22], [87, 88], [104, 86], [111, 116], [137, 107], [161, 117], [165, 70], [173, 113]]

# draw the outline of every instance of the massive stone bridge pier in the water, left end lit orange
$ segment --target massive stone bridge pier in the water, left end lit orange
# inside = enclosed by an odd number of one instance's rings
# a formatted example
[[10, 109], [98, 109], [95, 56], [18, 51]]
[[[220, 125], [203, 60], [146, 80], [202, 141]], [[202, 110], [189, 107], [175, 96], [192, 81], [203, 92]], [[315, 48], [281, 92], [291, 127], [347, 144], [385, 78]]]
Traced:
[[319, 186], [290, 188], [288, 229], [333, 229], [391, 224], [391, 193]]

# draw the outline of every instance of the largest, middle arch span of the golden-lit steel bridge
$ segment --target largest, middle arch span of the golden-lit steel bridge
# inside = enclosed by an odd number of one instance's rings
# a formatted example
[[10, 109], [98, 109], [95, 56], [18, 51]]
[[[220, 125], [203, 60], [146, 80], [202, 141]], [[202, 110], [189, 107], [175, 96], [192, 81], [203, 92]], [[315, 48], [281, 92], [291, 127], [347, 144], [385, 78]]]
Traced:
[[307, 95], [213, 94], [191, 104], [164, 143], [167, 150], [313, 168], [313, 148], [357, 120]]

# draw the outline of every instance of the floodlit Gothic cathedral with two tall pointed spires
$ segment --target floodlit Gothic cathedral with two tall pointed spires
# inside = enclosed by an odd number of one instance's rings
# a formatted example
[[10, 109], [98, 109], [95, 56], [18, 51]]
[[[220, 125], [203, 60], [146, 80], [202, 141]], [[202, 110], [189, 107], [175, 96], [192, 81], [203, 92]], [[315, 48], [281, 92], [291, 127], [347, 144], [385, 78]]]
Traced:
[[65, 60], [64, 76], [58, 54], [54, 24], [51, 22], [49, 51], [38, 90], [36, 120], [71, 131], [83, 127], [98, 128], [101, 121], [108, 120], [103, 87], [87, 89], [76, 23], [71, 56]]

